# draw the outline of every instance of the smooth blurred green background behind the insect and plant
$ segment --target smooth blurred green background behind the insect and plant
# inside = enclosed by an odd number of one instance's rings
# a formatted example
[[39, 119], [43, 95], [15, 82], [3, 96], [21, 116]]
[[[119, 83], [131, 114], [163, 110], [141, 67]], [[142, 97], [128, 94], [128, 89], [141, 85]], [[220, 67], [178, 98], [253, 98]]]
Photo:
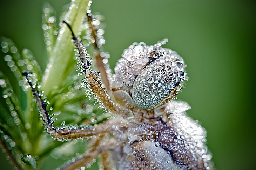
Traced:
[[[44, 2], [0, 2], [0, 35], [13, 39], [19, 50], [32, 50], [41, 68], [47, 61], [41, 29]], [[58, 18], [69, 0], [47, 2]], [[95, 0], [92, 5], [93, 12], [105, 16], [103, 47], [112, 56], [112, 68], [133, 42], [154, 44], [166, 37], [165, 47], [183, 56], [189, 81], [178, 99], [191, 105], [189, 116], [206, 128], [219, 170], [255, 168], [255, 7], [254, 1], [243, 0]], [[13, 77], [2, 58], [0, 62]], [[0, 164], [0, 169], [12, 169], [2, 153]]]

